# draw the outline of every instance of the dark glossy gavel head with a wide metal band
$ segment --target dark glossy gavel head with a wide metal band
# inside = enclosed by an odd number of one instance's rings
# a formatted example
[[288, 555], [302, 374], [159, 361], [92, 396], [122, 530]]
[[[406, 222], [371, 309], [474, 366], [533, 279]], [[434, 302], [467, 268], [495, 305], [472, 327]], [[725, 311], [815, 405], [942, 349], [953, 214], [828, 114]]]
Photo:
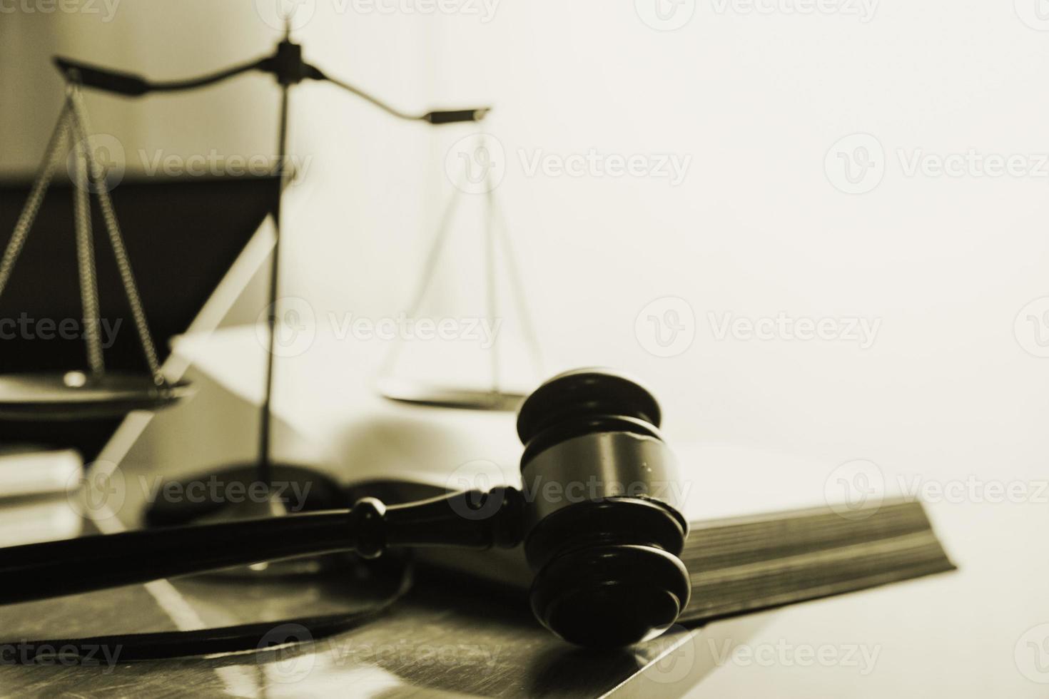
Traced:
[[597, 369], [555, 376], [520, 408], [532, 611], [568, 641], [645, 640], [688, 604], [688, 524], [659, 423], [647, 390]]

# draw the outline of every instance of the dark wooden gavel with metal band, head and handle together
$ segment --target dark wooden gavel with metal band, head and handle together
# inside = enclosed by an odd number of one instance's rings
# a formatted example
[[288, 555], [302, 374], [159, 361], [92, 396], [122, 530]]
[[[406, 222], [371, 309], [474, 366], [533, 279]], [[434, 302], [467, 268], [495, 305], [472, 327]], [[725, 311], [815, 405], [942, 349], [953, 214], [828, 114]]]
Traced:
[[167, 527], [0, 549], [0, 604], [41, 599], [298, 555], [389, 547], [523, 544], [536, 618], [585, 647], [662, 633], [688, 604], [688, 524], [660, 407], [626, 376], [570, 371], [522, 403], [521, 488], [465, 490], [386, 506]]

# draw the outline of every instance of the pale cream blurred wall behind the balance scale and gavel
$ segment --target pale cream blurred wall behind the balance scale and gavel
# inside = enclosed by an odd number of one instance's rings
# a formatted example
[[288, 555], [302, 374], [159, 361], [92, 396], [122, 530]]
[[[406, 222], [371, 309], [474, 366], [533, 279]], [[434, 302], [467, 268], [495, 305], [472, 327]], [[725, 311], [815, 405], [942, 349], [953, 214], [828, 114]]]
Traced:
[[[309, 60], [405, 109], [496, 107], [488, 129], [507, 154], [496, 194], [551, 370], [633, 370], [660, 390], [669, 420], [689, 415], [708, 438], [1015, 463], [1045, 439], [1034, 428], [1049, 364], [1022, 349], [1013, 320], [1049, 293], [1049, 177], [907, 177], [896, 151], [1049, 151], [1049, 35], [1008, 3], [881, 2], [868, 22], [720, 6], [700, 2], [684, 26], [657, 31], [630, 3], [504, 1], [484, 22], [317, 0], [296, 36]], [[5, 172], [31, 168], [50, 128], [61, 99], [50, 53], [173, 78], [263, 53], [278, 36], [248, 2], [124, 0], [110, 22], [104, 14], [3, 16]], [[88, 96], [95, 129], [130, 158], [272, 154], [275, 100], [263, 77], [140, 102]], [[290, 209], [286, 292], [321, 318], [397, 312], [451, 190], [445, 153], [469, 128], [395, 123], [320, 85], [297, 89], [293, 118], [295, 151], [312, 160]], [[863, 195], [836, 190], [823, 165], [855, 132], [886, 155], [883, 181]], [[528, 176], [521, 162], [520, 151], [588, 149], [691, 160], [677, 187]], [[479, 284], [477, 247], [464, 243], [444, 272]], [[665, 296], [697, 320], [694, 343], [672, 358], [635, 336], [638, 312]], [[708, 318], [779, 311], [881, 326], [861, 350], [719, 341]]]

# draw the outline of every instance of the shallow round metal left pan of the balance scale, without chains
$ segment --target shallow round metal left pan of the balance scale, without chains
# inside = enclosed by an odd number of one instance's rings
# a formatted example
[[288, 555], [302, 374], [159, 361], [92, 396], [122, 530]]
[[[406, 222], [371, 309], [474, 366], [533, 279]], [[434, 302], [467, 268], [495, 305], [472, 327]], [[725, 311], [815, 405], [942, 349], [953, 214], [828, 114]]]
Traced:
[[80, 371], [0, 375], [0, 419], [88, 420], [159, 410], [190, 395], [189, 384], [156, 386], [146, 374]]

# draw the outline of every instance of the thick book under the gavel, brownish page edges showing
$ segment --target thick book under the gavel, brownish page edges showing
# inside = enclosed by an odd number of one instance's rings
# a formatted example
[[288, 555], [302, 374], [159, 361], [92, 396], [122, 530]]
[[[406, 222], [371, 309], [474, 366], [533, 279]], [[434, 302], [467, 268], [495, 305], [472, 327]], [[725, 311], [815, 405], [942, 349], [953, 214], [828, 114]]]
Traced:
[[[956, 569], [917, 500], [871, 503], [848, 516], [828, 505], [699, 520], [689, 527], [681, 560], [689, 572], [692, 593], [679, 619], [683, 624]], [[466, 583], [524, 592], [532, 578], [521, 547], [488, 551], [420, 548], [415, 555], [422, 565]]]

